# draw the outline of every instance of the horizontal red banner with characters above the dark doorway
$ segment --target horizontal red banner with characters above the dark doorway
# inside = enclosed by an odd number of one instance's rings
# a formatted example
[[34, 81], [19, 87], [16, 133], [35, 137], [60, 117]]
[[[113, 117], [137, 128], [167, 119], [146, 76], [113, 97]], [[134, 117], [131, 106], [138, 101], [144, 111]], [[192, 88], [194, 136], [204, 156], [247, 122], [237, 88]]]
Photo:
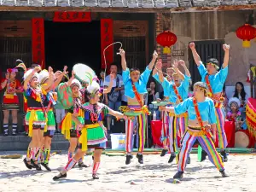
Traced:
[[90, 22], [90, 12], [55, 11], [54, 22]]

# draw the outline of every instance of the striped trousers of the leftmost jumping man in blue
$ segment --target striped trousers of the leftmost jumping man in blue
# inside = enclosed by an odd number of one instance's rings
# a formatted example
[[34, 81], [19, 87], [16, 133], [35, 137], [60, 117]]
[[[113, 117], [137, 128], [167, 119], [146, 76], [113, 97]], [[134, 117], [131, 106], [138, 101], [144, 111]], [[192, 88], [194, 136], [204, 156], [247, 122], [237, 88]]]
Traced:
[[[147, 117], [145, 113], [140, 114], [137, 118], [137, 136], [138, 136], [138, 153], [143, 153], [144, 150], [144, 144], [145, 144], [145, 131], [146, 131], [146, 125], [147, 125]], [[131, 153], [133, 149], [133, 131], [134, 131], [134, 125], [133, 120], [127, 119], [125, 121], [125, 150], [126, 153]]]

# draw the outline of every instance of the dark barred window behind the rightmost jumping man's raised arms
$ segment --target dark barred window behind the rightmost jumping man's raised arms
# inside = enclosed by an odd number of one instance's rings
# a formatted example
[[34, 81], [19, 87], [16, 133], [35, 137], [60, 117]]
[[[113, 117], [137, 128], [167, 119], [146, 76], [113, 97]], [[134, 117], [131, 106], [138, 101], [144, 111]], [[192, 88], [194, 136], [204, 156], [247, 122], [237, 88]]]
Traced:
[[[195, 49], [201, 57], [201, 61], [205, 63], [209, 57], [218, 59], [219, 67], [222, 66], [224, 60], [224, 39], [219, 40], [207, 40], [207, 41], [195, 41]], [[197, 81], [201, 81], [201, 75], [198, 72], [191, 50], [189, 49], [189, 71], [193, 84]]]

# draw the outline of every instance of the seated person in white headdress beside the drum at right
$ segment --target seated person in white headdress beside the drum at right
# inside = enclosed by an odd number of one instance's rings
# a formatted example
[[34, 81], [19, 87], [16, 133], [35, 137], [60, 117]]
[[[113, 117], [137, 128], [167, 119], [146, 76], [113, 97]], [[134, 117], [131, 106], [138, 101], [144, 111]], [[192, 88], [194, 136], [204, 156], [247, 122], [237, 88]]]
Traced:
[[241, 102], [238, 98], [230, 98], [229, 107], [230, 111], [227, 113], [226, 119], [234, 121], [236, 125], [236, 131], [241, 130], [241, 125], [243, 124], [243, 118], [241, 117], [241, 112], [239, 111], [239, 106]]

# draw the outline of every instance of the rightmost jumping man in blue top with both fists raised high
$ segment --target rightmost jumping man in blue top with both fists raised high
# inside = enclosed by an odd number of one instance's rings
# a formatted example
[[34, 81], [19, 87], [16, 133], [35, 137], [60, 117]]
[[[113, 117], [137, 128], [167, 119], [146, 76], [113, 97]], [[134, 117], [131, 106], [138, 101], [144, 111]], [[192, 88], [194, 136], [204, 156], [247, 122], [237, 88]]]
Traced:
[[[224, 132], [224, 113], [223, 113], [223, 102], [224, 97], [222, 96], [222, 91], [224, 87], [224, 82], [228, 76], [228, 64], [229, 64], [229, 53], [230, 45], [224, 44], [224, 62], [221, 69], [218, 72], [218, 60], [215, 58], [209, 59], [207, 61], [207, 68], [203, 65], [200, 56], [197, 54], [195, 49], [195, 44], [189, 44], [190, 49], [198, 67], [198, 71], [201, 74], [201, 81], [207, 84], [209, 91], [208, 96], [212, 98], [214, 106], [216, 108], [217, 116], [217, 131], [218, 131], [218, 143], [219, 148], [221, 148], [220, 154], [224, 157], [224, 161], [228, 161], [228, 157], [225, 148], [228, 145], [227, 137]], [[202, 160], [206, 160], [206, 153], [202, 152]]]

